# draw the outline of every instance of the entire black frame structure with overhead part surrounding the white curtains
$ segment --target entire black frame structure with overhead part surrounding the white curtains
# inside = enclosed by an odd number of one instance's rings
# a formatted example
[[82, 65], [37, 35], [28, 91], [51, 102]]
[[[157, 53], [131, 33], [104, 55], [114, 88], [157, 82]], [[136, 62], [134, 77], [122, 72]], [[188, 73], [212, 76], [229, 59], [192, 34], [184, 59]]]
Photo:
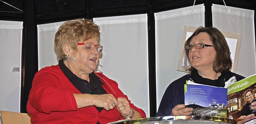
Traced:
[[[224, 0], [227, 6], [256, 10], [256, 0]], [[26, 111], [34, 74], [38, 71], [36, 25], [75, 18], [131, 14], [148, 15], [150, 117], [156, 116], [156, 57], [154, 13], [192, 6], [194, 0], [0, 0], [0, 20], [23, 21], [21, 112]], [[196, 0], [205, 5], [205, 26], [212, 26], [212, 4], [223, 0]], [[255, 25], [254, 18], [254, 26]], [[255, 27], [254, 27], [255, 29]]]

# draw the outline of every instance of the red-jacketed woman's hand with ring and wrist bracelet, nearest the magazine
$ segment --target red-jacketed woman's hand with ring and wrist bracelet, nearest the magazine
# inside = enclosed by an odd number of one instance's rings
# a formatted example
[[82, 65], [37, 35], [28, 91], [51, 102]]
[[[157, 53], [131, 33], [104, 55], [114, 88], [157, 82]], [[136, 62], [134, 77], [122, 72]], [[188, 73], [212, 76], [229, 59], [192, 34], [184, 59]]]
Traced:
[[121, 113], [123, 117], [131, 116], [131, 109], [128, 100], [124, 97], [117, 98], [117, 106], [116, 109]]

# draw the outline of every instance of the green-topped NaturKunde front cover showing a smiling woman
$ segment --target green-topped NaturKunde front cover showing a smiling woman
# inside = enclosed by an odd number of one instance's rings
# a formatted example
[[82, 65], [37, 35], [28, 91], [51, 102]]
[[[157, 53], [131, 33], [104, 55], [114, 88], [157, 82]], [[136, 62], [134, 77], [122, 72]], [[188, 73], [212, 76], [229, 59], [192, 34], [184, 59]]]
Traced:
[[256, 101], [256, 75], [251, 75], [227, 88], [227, 117], [236, 120], [238, 124], [256, 124], [256, 110], [250, 108], [251, 103]]

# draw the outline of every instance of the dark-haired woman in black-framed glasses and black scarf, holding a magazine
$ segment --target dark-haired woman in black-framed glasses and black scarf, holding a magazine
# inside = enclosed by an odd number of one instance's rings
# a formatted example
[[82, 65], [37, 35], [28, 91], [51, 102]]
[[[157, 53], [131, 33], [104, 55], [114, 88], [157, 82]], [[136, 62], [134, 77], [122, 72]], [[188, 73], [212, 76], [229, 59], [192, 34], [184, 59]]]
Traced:
[[224, 35], [216, 28], [199, 27], [184, 45], [185, 70], [190, 73], [172, 82], [166, 89], [156, 116], [192, 114], [184, 105], [184, 84], [190, 80], [203, 85], [224, 87], [231, 77], [237, 81], [243, 76], [232, 73], [230, 49]]

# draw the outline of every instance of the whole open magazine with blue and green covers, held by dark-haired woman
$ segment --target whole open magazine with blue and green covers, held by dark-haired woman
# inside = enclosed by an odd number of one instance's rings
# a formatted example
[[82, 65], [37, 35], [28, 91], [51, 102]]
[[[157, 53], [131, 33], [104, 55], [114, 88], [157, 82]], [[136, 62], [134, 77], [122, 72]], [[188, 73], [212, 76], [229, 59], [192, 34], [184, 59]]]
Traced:
[[[250, 109], [250, 103], [256, 101], [256, 74], [241, 81], [232, 77], [225, 84], [225, 87], [214, 87], [187, 81], [184, 85], [185, 106], [194, 109], [192, 115], [231, 118], [238, 124], [253, 120], [256, 110]], [[247, 100], [251, 102], [247, 103]], [[241, 119], [242, 115], [247, 117]]]

